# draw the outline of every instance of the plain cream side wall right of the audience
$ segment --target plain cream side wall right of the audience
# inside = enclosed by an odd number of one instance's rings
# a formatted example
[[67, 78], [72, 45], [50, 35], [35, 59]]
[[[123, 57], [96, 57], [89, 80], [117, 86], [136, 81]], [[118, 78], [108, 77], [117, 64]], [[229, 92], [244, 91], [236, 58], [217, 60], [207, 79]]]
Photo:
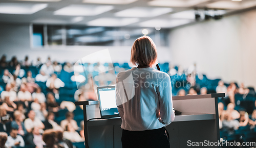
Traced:
[[256, 87], [256, 10], [174, 29], [170, 32], [172, 63], [209, 78]]

